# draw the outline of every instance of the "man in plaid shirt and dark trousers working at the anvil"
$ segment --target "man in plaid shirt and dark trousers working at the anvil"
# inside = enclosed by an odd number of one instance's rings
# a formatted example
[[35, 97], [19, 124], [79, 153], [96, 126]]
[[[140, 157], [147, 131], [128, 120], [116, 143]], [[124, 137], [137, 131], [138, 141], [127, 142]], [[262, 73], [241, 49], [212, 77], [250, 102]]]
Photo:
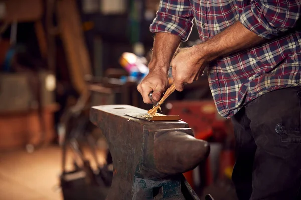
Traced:
[[[239, 199], [301, 199], [300, 0], [161, 0], [149, 74], [138, 85], [159, 100], [172, 66], [176, 89], [207, 67], [218, 112], [233, 121]], [[192, 19], [201, 44], [181, 50]]]

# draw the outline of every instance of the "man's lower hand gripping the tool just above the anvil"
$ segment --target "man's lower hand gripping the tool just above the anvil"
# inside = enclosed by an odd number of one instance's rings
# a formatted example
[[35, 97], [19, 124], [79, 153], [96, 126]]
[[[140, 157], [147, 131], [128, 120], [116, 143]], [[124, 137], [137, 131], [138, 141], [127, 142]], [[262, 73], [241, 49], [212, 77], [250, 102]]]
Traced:
[[163, 68], [152, 68], [137, 89], [141, 93], [144, 103], [151, 104], [152, 101], [150, 101], [148, 94], [153, 91], [152, 98], [159, 101], [167, 86], [167, 72]]

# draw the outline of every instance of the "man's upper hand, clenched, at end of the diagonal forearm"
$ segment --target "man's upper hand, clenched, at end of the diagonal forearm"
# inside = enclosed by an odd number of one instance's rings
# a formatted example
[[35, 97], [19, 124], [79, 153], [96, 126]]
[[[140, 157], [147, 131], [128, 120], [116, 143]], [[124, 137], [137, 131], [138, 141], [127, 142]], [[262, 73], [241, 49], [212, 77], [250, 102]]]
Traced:
[[184, 84], [191, 84], [203, 73], [208, 62], [199, 49], [195, 46], [181, 49], [172, 60], [172, 75], [177, 91], [183, 91]]

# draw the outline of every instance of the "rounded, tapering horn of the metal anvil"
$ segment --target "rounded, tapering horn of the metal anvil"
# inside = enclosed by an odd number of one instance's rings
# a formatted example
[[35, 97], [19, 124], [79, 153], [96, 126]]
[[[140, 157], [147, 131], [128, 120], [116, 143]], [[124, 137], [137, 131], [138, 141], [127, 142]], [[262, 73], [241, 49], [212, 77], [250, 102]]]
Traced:
[[158, 172], [168, 175], [194, 169], [208, 157], [207, 142], [181, 132], [159, 132], [154, 135], [154, 161]]

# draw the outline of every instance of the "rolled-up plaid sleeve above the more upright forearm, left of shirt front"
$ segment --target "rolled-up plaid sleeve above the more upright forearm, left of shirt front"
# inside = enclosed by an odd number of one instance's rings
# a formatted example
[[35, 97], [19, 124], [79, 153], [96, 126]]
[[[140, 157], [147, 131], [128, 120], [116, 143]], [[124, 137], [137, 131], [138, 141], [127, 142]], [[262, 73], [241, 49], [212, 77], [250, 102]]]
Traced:
[[150, 25], [150, 32], [168, 32], [187, 41], [192, 21], [193, 12], [189, 0], [161, 0], [156, 17]]

